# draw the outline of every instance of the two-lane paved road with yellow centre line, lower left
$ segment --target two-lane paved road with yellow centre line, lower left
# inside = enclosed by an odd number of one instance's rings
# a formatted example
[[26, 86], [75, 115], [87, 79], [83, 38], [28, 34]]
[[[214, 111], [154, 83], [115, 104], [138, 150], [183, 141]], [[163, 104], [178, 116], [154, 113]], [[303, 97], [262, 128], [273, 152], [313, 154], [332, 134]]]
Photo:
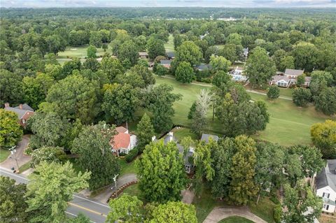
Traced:
[[[24, 175], [12, 173], [6, 168], [0, 168], [0, 175], [6, 175], [14, 179], [18, 183], [25, 183], [29, 181]], [[104, 223], [106, 215], [109, 213], [109, 206], [93, 199], [87, 199], [81, 194], [73, 194], [73, 200], [69, 202], [69, 207], [66, 209], [66, 213], [73, 217], [78, 213], [83, 213], [85, 216], [90, 217], [91, 222]]]

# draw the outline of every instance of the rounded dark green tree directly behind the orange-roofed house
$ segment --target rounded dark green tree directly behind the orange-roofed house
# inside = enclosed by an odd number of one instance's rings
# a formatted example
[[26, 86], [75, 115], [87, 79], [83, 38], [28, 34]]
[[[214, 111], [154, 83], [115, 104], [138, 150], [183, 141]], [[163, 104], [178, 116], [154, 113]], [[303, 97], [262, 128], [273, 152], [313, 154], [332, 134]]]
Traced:
[[117, 124], [130, 122], [134, 118], [134, 112], [139, 104], [137, 89], [130, 85], [109, 85], [104, 93], [102, 110], [107, 120], [113, 120]]

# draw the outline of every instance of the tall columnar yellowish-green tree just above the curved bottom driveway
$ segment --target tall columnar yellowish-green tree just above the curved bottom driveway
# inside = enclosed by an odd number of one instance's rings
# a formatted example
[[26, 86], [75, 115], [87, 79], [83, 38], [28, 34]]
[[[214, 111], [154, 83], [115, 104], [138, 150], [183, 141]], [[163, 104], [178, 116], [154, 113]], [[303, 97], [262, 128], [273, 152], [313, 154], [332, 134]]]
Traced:
[[255, 176], [255, 142], [246, 136], [235, 138], [237, 152], [232, 157], [232, 180], [229, 198], [237, 205], [246, 205], [258, 192], [253, 180]]

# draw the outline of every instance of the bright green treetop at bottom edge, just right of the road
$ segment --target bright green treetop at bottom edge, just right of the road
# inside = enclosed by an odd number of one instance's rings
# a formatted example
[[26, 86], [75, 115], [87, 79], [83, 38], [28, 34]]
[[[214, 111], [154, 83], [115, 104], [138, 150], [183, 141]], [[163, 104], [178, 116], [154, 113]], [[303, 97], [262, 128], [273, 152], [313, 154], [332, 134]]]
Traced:
[[118, 199], [111, 199], [109, 206], [111, 211], [107, 215], [106, 222], [141, 222], [141, 206], [143, 205], [137, 196], [123, 194]]

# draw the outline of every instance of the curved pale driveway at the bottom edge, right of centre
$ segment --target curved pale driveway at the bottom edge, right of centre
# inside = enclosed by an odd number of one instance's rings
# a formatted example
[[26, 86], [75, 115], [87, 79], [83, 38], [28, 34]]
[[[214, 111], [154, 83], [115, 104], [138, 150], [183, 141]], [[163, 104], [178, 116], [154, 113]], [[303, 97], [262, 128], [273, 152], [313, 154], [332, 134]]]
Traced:
[[247, 207], [216, 207], [211, 211], [203, 223], [216, 223], [230, 216], [245, 217], [255, 223], [267, 223], [257, 215], [251, 213]]

